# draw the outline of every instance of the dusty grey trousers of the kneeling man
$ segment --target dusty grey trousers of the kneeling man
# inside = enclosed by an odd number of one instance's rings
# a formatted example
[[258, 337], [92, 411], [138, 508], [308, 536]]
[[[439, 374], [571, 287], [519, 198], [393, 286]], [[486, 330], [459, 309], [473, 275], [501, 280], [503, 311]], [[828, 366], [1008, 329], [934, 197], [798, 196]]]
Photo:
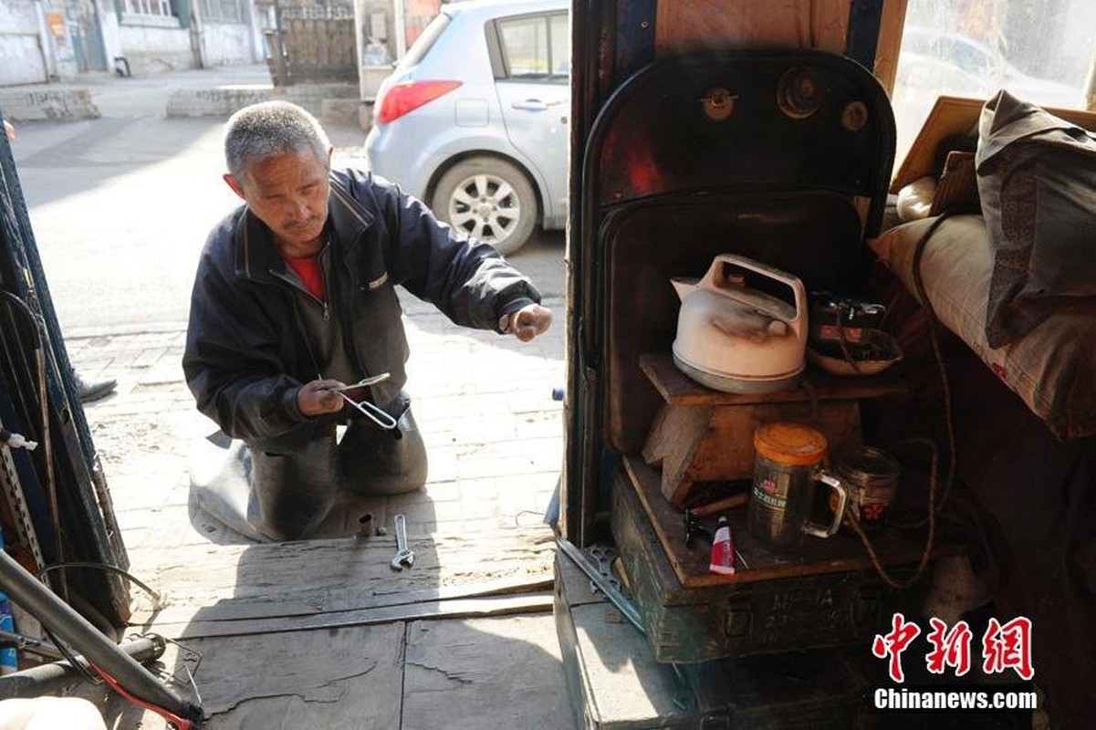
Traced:
[[397, 423], [398, 437], [355, 419], [338, 442], [333, 424], [316, 438], [276, 450], [233, 442], [230, 468], [192, 488], [206, 512], [238, 533], [260, 540], [302, 539], [327, 517], [340, 489], [383, 497], [426, 483], [426, 447], [410, 406]]

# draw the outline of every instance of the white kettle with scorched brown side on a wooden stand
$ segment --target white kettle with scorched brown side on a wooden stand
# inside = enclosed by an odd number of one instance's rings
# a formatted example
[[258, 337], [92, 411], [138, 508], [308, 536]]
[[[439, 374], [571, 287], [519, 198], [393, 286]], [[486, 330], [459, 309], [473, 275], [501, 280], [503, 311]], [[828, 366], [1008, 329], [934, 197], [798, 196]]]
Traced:
[[[747, 288], [730, 266], [786, 284], [795, 306]], [[682, 300], [674, 364], [716, 390], [765, 393], [795, 388], [807, 351], [807, 292], [798, 277], [753, 259], [717, 255], [699, 282], [671, 280]]]

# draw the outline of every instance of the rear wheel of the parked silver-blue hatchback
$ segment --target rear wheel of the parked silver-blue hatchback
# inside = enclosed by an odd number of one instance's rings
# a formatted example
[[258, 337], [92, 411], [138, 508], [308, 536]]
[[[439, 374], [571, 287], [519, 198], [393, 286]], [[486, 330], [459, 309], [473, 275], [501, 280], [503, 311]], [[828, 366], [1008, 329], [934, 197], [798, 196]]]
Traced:
[[473, 157], [457, 162], [437, 181], [431, 208], [458, 231], [514, 253], [533, 235], [539, 210], [525, 174], [510, 162]]

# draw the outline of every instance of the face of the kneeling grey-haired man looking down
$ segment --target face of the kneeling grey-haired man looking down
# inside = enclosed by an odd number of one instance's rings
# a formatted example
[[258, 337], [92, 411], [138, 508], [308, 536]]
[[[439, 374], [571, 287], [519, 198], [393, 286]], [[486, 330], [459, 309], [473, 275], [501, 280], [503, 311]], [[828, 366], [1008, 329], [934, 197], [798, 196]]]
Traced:
[[315, 255], [328, 219], [330, 161], [331, 150], [324, 160], [311, 150], [283, 152], [248, 166], [242, 180], [226, 174], [225, 182], [266, 224], [282, 253]]

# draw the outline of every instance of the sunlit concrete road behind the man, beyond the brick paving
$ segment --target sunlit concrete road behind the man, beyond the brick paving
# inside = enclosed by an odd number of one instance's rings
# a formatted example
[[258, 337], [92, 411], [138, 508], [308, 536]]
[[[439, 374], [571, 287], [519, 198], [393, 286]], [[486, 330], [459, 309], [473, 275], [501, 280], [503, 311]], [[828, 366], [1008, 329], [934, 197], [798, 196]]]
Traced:
[[[19, 126], [19, 178], [70, 337], [185, 322], [198, 252], [239, 199], [221, 180], [225, 119], [167, 118], [164, 109], [172, 89], [232, 82], [233, 73], [248, 83], [265, 69], [103, 77], [90, 84], [101, 118]], [[328, 132], [336, 164], [364, 167], [361, 129]], [[546, 297], [561, 298], [563, 251], [562, 233], [547, 233], [511, 260]]]

